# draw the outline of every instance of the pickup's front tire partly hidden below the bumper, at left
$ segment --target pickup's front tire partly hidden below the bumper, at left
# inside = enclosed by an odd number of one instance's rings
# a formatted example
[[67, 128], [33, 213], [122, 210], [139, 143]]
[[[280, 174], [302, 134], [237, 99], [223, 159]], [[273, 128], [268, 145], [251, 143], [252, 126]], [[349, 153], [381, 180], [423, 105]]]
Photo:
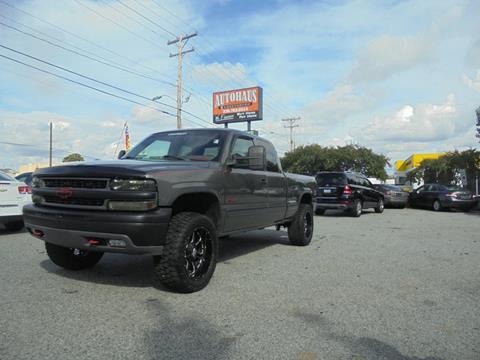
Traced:
[[102, 252], [71, 249], [45, 243], [47, 255], [52, 262], [68, 270], [83, 270], [95, 266], [103, 256]]

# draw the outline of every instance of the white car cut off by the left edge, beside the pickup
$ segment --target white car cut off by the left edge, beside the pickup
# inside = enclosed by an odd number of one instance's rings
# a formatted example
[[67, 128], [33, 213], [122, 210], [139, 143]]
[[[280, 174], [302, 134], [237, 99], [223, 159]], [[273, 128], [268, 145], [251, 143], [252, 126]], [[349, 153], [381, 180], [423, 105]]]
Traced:
[[32, 201], [32, 188], [0, 171], [0, 225], [9, 231], [23, 228], [22, 208]]

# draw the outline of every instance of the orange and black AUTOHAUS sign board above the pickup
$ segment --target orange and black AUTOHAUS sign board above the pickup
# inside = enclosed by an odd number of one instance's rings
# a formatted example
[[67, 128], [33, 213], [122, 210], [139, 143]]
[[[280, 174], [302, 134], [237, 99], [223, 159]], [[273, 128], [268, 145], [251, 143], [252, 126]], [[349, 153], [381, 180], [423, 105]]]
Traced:
[[262, 88], [253, 87], [213, 93], [213, 122], [227, 124], [262, 120]]

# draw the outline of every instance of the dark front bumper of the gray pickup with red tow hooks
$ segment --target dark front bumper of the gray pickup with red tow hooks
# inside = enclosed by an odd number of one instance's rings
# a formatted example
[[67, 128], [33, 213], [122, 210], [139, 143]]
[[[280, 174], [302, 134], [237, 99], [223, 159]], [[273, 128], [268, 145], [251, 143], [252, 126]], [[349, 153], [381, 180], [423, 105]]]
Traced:
[[[161, 253], [171, 214], [170, 208], [138, 213], [36, 205], [23, 208], [25, 227], [41, 240], [64, 247], [125, 254]], [[109, 240], [121, 240], [125, 246], [110, 246]]]

